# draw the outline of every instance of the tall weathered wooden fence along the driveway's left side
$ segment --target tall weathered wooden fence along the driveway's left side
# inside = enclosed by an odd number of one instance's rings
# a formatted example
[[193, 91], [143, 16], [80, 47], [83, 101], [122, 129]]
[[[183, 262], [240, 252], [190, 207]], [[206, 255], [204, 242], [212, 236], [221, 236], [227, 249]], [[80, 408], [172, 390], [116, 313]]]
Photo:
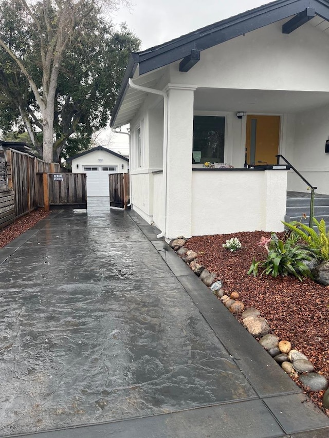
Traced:
[[[46, 163], [39, 158], [13, 149], [1, 150], [0, 228], [30, 213], [36, 207], [44, 206], [43, 180], [42, 175], [40, 178], [38, 173], [61, 172], [61, 170], [58, 163]], [[14, 216], [12, 207], [9, 208], [8, 204], [12, 201], [14, 201]], [[2, 216], [9, 211], [10, 215]], [[5, 217], [7, 220], [2, 221], [1, 219]]]

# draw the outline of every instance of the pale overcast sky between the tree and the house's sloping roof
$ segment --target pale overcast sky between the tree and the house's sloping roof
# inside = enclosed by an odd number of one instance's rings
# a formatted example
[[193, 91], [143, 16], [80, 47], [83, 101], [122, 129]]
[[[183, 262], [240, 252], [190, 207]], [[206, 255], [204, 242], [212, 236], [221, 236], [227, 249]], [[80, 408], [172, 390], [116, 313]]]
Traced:
[[126, 22], [141, 39], [141, 49], [165, 43], [200, 27], [270, 3], [266, 0], [131, 0], [121, 7], [114, 23]]

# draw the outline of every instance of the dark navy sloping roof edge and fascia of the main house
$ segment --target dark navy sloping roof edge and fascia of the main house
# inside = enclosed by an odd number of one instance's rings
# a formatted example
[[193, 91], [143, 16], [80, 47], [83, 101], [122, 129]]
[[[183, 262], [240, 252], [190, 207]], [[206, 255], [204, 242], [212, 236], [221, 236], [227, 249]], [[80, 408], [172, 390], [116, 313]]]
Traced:
[[[184, 59], [193, 54], [192, 51], [202, 51], [218, 44], [229, 41], [236, 36], [251, 32], [269, 24], [275, 23], [284, 18], [296, 16], [297, 26], [303, 24], [303, 18], [298, 14], [305, 13], [307, 20], [316, 14], [326, 21], [329, 21], [329, 0], [277, 0], [267, 5], [251, 9], [247, 12], [235, 15], [220, 22], [197, 29], [186, 35], [182, 35], [167, 43], [151, 47], [150, 49], [132, 53], [127, 65], [121, 89], [113, 109], [110, 126], [115, 125], [116, 117], [124, 99], [129, 78], [132, 78], [137, 65], [139, 75], [156, 70], [175, 61]], [[294, 23], [291, 23], [290, 31], [294, 30]], [[295, 27], [295, 28], [296, 28]], [[284, 30], [283, 30], [284, 31]], [[284, 31], [284, 33], [289, 33]]]

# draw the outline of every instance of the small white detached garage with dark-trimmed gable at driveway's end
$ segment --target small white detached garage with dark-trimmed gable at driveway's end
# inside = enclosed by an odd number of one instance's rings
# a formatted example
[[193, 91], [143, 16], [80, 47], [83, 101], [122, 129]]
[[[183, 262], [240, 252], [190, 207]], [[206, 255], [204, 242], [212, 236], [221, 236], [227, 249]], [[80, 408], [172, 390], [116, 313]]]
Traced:
[[71, 157], [72, 173], [87, 174], [87, 196], [109, 196], [108, 174], [127, 173], [129, 159], [97, 146]]

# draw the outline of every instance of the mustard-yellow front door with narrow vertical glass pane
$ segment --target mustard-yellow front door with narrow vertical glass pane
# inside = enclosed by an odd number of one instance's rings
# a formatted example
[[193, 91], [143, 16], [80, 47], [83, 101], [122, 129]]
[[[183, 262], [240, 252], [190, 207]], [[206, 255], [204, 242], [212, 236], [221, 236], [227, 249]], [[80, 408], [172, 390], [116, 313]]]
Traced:
[[279, 136], [280, 116], [247, 116], [247, 163], [276, 164]]

